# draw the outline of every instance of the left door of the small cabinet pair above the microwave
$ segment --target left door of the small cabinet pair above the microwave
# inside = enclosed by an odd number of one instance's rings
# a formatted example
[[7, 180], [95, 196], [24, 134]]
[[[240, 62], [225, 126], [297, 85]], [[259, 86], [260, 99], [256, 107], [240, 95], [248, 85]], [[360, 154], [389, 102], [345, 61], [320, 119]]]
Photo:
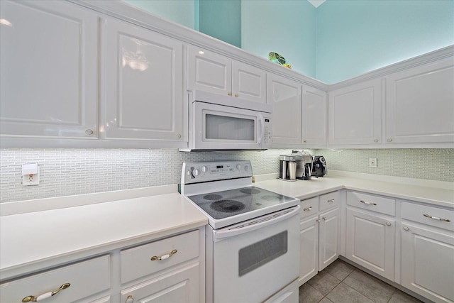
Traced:
[[188, 45], [187, 89], [232, 95], [232, 60]]

